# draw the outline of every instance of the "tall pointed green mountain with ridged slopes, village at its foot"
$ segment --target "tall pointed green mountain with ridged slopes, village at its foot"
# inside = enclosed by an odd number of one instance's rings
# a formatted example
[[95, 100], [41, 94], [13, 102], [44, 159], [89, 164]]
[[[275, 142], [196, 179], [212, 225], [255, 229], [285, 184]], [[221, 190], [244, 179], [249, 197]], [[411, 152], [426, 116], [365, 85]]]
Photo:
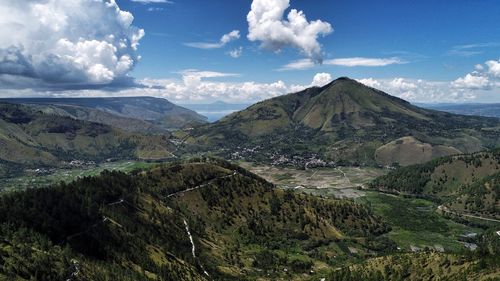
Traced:
[[[418, 155], [416, 161], [424, 162], [499, 145], [500, 120], [419, 108], [339, 78], [259, 102], [178, 136], [233, 157], [251, 151], [249, 158], [265, 161], [320, 157], [339, 164], [390, 165], [399, 161], [398, 155]], [[419, 155], [422, 147], [429, 151], [424, 156]]]

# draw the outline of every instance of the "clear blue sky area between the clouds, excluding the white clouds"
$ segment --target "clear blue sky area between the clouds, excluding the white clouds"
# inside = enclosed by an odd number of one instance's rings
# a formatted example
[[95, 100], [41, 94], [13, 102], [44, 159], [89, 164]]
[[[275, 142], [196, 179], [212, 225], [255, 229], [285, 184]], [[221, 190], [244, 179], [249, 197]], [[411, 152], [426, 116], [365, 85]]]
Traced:
[[[399, 56], [408, 63], [371, 68], [325, 66], [286, 73], [274, 70], [303, 57], [293, 49], [281, 54], [262, 51], [258, 43], [244, 38], [250, 1], [118, 3], [132, 11], [136, 25], [146, 30], [141, 41], [143, 60], [134, 71], [137, 77], [160, 78], [179, 69], [197, 68], [242, 73], [241, 79], [263, 82], [284, 79], [306, 83], [318, 70], [356, 78], [452, 80], [470, 72], [477, 63], [500, 57], [499, 45], [470, 49], [478, 52], [474, 55], [450, 54], [456, 46], [500, 44], [498, 1], [453, 1], [453, 5], [450, 1], [291, 1], [309, 20], [321, 19], [333, 26], [334, 32], [320, 39], [327, 58]], [[151, 7], [163, 10], [148, 12]], [[198, 50], [182, 45], [217, 41], [234, 29], [241, 31], [242, 38], [225, 48]], [[225, 54], [239, 46], [244, 47], [244, 54], [238, 60]]]

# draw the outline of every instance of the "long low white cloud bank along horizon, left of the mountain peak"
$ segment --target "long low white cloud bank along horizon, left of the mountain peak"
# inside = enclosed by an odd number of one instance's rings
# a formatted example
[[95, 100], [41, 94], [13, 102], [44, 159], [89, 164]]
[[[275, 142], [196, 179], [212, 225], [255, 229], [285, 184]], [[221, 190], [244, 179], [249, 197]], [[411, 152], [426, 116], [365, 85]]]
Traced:
[[[154, 96], [162, 97], [176, 103], [200, 103], [222, 100], [232, 103], [257, 102], [292, 92], [298, 92], [311, 86], [323, 86], [330, 82], [331, 76], [327, 73], [318, 73], [310, 84], [289, 84], [282, 80], [270, 83], [255, 81], [230, 82], [228, 78], [238, 78], [239, 74], [218, 71], [201, 71], [188, 69], [179, 72], [180, 79], [142, 79], [138, 83], [142, 87], [120, 88], [116, 91], [102, 89], [82, 90], [42, 90], [33, 89], [6, 90], [0, 89], [0, 97], [102, 97], [102, 96]], [[224, 80], [225, 81], [217, 81]]]

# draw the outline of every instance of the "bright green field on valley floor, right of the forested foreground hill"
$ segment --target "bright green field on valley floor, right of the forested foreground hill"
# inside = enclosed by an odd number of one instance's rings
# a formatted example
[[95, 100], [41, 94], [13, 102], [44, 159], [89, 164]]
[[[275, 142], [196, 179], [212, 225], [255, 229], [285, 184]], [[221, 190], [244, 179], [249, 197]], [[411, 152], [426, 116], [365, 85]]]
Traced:
[[410, 250], [410, 245], [421, 249], [438, 245], [447, 252], [460, 252], [465, 249], [458, 241], [460, 235], [482, 232], [446, 219], [436, 212], [437, 204], [424, 199], [367, 191], [356, 201], [371, 206], [392, 226], [386, 235], [402, 250]]

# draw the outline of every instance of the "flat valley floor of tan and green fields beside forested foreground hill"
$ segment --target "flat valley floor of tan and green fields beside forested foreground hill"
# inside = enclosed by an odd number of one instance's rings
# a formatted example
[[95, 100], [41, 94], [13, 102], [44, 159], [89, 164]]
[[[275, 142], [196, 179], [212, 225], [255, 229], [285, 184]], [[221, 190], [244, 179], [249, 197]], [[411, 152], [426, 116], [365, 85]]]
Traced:
[[466, 235], [480, 235], [484, 231], [442, 216], [436, 202], [368, 189], [368, 183], [387, 174], [388, 170], [360, 167], [297, 170], [250, 163], [240, 165], [283, 189], [319, 197], [346, 198], [369, 206], [391, 226], [386, 236], [403, 252], [431, 249], [461, 253], [467, 249], [463, 243]]

